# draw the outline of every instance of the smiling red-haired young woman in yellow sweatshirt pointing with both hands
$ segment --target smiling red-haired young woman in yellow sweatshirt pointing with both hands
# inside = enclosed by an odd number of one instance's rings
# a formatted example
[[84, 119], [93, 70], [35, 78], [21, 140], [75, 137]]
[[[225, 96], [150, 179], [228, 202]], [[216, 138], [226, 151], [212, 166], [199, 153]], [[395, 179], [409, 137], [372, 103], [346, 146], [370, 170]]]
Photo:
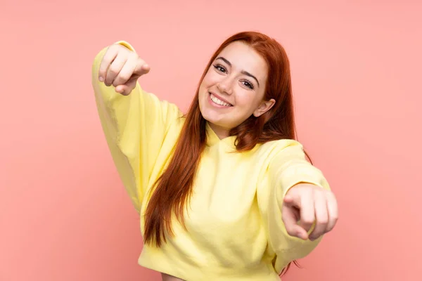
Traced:
[[139, 86], [149, 70], [125, 41], [92, 68], [110, 152], [141, 218], [139, 264], [163, 280], [279, 280], [338, 217], [295, 141], [283, 47], [258, 32], [226, 39], [186, 115]]

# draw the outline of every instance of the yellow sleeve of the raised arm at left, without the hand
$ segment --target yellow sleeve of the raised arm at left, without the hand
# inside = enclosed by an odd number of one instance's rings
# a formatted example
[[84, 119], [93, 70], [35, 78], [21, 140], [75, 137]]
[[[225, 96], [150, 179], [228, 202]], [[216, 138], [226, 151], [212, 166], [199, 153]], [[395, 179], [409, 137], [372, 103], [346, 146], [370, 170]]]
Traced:
[[[118, 41], [134, 51], [125, 41]], [[138, 83], [128, 96], [98, 80], [98, 69], [106, 53], [103, 48], [91, 70], [96, 107], [110, 154], [136, 211], [140, 211], [143, 194], [172, 121], [180, 116], [179, 108], [159, 100], [141, 89]]]

